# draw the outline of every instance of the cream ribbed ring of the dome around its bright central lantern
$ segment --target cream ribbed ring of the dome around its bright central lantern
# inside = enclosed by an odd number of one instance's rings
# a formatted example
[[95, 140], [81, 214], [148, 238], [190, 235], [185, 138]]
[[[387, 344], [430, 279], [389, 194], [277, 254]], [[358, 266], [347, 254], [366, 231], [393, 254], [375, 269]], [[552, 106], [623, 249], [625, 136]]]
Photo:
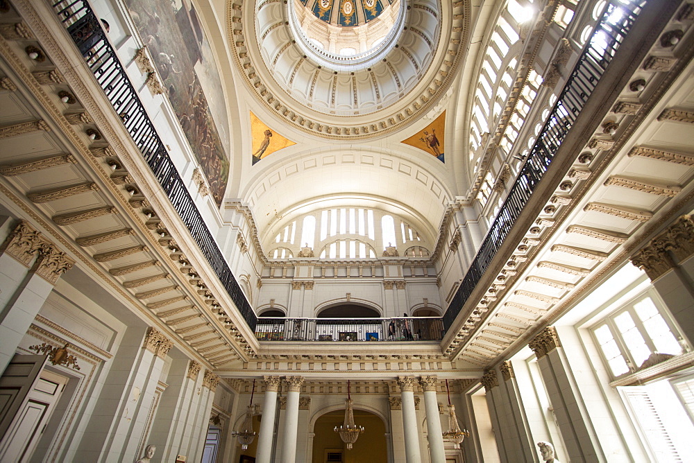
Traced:
[[228, 40], [248, 89], [284, 123], [328, 139], [381, 137], [426, 114], [455, 80], [471, 19], [468, 0], [409, 2], [384, 58], [348, 71], [305, 53], [291, 2], [228, 1]]

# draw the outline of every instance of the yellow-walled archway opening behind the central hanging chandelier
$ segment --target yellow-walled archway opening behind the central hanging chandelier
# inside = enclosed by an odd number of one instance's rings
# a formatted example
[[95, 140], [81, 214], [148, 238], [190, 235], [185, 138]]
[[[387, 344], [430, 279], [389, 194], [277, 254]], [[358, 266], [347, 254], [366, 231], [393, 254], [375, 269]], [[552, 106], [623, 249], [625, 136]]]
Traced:
[[351, 450], [346, 450], [346, 444], [335, 433], [335, 426], [344, 423], [344, 405], [338, 410], [325, 412], [313, 422], [313, 448], [312, 462], [323, 463], [325, 456], [330, 453], [341, 453], [341, 462], [373, 462], [385, 463], [388, 461], [386, 424], [377, 414], [360, 410], [354, 410], [354, 421], [364, 426], [364, 434], [359, 435], [357, 442]]

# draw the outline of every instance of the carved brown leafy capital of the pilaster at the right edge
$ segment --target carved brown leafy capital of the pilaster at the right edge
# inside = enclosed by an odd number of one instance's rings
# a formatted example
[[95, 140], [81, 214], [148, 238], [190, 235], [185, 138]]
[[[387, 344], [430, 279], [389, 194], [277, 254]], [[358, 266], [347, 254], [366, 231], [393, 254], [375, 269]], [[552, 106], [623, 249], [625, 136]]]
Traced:
[[631, 260], [653, 281], [692, 254], [694, 222], [692, 216], [682, 216], [634, 254]]

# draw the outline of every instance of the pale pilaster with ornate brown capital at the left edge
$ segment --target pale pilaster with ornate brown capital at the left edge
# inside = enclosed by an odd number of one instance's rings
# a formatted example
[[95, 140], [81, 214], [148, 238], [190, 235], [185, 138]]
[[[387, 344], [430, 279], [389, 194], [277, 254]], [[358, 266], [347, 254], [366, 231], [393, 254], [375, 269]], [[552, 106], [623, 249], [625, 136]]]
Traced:
[[[38, 258], [36, 259], [36, 257]], [[39, 313], [60, 275], [74, 261], [22, 220], [0, 246], [0, 372]]]

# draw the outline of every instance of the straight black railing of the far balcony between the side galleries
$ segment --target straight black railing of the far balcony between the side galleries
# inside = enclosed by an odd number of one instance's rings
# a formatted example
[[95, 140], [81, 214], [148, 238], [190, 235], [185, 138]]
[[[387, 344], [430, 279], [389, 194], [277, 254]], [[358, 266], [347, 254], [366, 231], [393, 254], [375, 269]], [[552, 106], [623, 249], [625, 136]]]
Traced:
[[260, 341], [440, 341], [440, 317], [400, 318], [264, 318], [255, 337]]

